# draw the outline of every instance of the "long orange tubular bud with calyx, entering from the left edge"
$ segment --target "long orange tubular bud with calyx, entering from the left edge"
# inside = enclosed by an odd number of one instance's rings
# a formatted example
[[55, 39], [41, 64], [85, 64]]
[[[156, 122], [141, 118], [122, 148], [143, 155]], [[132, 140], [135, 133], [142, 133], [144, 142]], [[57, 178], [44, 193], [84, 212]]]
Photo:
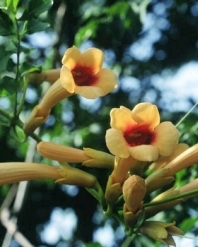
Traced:
[[53, 179], [56, 183], [98, 189], [97, 179], [80, 169], [61, 166], [53, 167], [28, 162], [0, 163], [0, 185], [35, 179]]

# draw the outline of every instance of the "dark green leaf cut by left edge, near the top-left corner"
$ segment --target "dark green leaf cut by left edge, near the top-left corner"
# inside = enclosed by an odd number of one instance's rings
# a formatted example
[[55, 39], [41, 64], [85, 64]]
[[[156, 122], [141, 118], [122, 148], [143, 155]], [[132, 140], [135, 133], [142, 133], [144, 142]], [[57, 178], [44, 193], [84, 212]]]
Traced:
[[0, 9], [0, 35], [1, 36], [9, 36], [12, 35], [13, 32], [13, 22], [9, 17], [9, 13], [4, 10]]

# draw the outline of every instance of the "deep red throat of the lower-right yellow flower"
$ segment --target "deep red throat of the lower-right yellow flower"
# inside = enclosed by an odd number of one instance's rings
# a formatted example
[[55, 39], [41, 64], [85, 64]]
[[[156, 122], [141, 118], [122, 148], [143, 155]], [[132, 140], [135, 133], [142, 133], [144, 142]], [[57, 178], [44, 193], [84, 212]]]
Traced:
[[155, 133], [148, 125], [128, 126], [124, 131], [124, 138], [129, 146], [149, 145], [155, 139]]

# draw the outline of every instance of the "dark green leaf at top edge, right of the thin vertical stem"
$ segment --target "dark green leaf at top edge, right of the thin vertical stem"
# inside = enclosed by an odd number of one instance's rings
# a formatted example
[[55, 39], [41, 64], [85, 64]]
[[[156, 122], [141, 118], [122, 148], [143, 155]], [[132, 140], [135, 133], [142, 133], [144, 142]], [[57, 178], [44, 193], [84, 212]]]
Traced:
[[52, 6], [52, 0], [30, 0], [21, 16], [21, 20], [37, 18], [40, 14], [47, 11]]

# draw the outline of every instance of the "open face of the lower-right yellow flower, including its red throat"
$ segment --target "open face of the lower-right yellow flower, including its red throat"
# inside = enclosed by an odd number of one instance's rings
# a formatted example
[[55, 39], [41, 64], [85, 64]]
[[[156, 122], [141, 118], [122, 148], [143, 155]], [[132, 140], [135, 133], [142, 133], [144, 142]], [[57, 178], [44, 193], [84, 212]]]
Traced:
[[140, 103], [132, 111], [124, 106], [113, 108], [110, 116], [106, 144], [118, 157], [154, 161], [159, 155], [170, 155], [178, 142], [176, 127], [169, 121], [160, 123], [157, 106], [151, 103]]

